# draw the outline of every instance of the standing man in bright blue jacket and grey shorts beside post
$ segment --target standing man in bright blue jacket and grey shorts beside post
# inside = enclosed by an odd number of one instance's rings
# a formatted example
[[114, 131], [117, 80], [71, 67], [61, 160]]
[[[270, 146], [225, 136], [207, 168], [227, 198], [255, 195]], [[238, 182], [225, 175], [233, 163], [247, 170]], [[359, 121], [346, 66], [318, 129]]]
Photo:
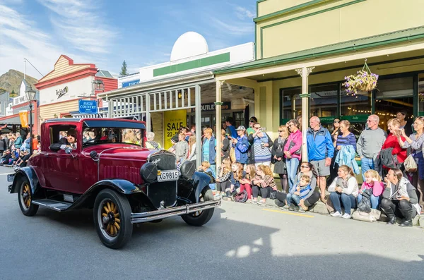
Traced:
[[307, 129], [307, 155], [310, 163], [318, 172], [318, 186], [321, 190], [321, 200], [325, 202], [326, 176], [330, 175], [331, 159], [334, 156], [333, 140], [329, 130], [321, 126], [317, 116], [310, 118], [310, 128]]

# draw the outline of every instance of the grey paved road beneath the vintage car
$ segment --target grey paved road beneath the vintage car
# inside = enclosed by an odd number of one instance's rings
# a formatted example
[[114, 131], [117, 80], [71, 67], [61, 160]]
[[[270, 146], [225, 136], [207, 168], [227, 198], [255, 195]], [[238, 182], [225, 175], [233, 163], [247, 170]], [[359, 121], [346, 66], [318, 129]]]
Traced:
[[0, 167], [0, 279], [424, 279], [424, 231], [223, 202], [201, 228], [179, 217], [100, 243], [89, 210], [20, 213]]

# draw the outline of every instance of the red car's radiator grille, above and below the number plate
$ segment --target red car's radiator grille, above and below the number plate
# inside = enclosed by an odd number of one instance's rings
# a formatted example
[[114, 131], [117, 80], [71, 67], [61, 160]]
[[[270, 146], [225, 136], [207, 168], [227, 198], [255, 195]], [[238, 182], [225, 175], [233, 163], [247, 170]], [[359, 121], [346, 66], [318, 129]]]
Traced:
[[[158, 170], [175, 170], [175, 154], [170, 152], [160, 151], [151, 154], [148, 162], [152, 162], [158, 166]], [[163, 201], [165, 207], [172, 207], [177, 202], [177, 181], [156, 182], [148, 186], [147, 195], [153, 202], [156, 208], [160, 207], [160, 202]]]

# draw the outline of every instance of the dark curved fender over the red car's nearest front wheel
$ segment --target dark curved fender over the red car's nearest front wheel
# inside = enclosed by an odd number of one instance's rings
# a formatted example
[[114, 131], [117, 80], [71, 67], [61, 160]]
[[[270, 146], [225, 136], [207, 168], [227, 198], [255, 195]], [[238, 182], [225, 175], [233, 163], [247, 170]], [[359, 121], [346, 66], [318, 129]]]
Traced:
[[97, 197], [98, 193], [105, 188], [109, 188], [111, 190], [116, 191], [117, 193], [122, 193], [124, 195], [135, 195], [139, 197], [139, 200], [143, 200], [148, 206], [152, 209], [155, 209], [153, 203], [148, 198], [146, 193], [139, 188], [138, 185], [131, 183], [130, 181], [126, 181], [123, 179], [105, 179], [98, 181], [94, 185], [92, 185], [88, 190], [86, 190], [81, 197], [76, 200], [76, 202], [71, 205], [68, 209], [76, 209], [78, 207], [88, 206], [91, 207], [94, 205], [95, 197]]

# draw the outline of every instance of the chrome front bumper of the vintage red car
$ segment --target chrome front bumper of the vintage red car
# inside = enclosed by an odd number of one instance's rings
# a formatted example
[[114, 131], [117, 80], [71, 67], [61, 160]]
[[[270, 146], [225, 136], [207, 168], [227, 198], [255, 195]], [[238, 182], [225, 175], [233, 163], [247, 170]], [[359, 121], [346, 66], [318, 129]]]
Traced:
[[131, 213], [131, 224], [145, 223], [146, 221], [155, 221], [158, 219], [190, 214], [201, 210], [215, 208], [220, 206], [220, 204], [221, 200], [211, 200], [149, 212]]

